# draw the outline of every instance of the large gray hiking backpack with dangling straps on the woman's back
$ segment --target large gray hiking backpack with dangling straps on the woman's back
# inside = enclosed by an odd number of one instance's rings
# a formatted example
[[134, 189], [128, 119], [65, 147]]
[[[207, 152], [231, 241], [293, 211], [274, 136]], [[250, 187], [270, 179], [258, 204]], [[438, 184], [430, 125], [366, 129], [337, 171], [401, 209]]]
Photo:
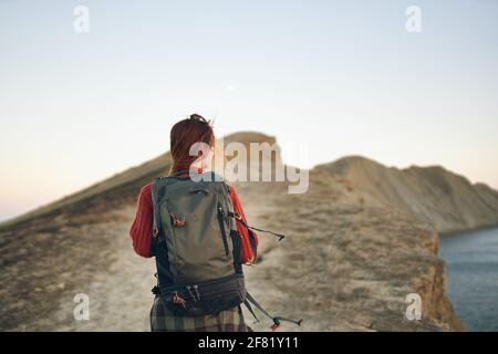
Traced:
[[241, 303], [255, 314], [251, 302], [273, 320], [274, 326], [281, 320], [299, 324], [270, 316], [246, 291], [237, 222], [250, 235], [251, 230], [273, 232], [251, 228], [234, 212], [229, 187], [220, 176], [180, 177], [186, 173], [159, 177], [153, 184], [152, 253], [158, 280], [153, 292], [177, 315], [211, 314]]

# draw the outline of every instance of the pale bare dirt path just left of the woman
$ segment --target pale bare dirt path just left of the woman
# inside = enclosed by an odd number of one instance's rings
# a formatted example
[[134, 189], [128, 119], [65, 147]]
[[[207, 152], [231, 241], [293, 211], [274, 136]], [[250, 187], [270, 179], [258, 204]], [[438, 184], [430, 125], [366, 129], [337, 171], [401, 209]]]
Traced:
[[[60, 331], [148, 331], [148, 313], [153, 301], [151, 289], [155, 285], [153, 259], [138, 257], [127, 237], [134, 208], [122, 210], [128, 222], [97, 225], [89, 232], [111, 232], [115, 258], [106, 269], [97, 270], [92, 280], [82, 284], [91, 303], [90, 321], [64, 321]], [[110, 231], [111, 230], [111, 231]], [[72, 293], [60, 303], [55, 319], [71, 319], [74, 303]]]

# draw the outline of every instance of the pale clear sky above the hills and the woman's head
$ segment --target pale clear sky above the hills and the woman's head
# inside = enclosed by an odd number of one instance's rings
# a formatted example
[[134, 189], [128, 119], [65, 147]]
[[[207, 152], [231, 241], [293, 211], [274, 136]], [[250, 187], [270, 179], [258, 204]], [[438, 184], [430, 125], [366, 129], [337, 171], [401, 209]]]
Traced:
[[361, 154], [498, 188], [497, 63], [492, 0], [0, 0], [0, 219], [162, 154], [193, 112], [304, 167]]

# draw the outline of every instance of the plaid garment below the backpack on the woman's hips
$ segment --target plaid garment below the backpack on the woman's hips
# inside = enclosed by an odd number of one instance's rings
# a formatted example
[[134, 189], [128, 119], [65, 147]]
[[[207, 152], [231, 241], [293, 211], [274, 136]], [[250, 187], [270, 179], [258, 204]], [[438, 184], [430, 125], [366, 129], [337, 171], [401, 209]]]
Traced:
[[197, 317], [175, 315], [159, 296], [151, 309], [152, 332], [248, 332], [240, 306]]

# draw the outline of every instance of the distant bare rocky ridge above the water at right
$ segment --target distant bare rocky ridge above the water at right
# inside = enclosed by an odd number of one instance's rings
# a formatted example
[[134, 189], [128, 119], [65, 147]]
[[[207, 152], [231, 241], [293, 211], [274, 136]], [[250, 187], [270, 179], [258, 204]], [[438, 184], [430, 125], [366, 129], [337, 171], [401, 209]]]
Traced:
[[498, 225], [498, 191], [440, 166], [398, 169], [351, 156], [317, 169], [344, 177], [370, 202], [412, 212], [438, 232]]

